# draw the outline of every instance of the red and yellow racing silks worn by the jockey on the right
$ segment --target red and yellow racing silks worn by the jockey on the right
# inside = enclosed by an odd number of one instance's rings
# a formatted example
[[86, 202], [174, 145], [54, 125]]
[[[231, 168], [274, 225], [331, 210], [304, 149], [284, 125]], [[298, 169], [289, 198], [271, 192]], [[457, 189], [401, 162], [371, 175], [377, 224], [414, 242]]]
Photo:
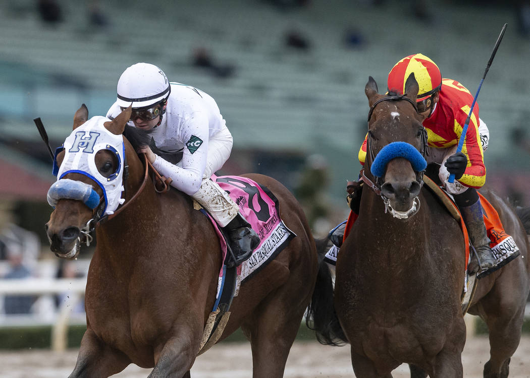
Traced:
[[[472, 103], [473, 95], [462, 84], [456, 80], [442, 79], [436, 109], [423, 121], [429, 147], [447, 148], [458, 144]], [[367, 137], [368, 134], [359, 150], [359, 161], [363, 165], [366, 159]], [[479, 136], [479, 106], [476, 103], [462, 152], [467, 156], [467, 168], [458, 182], [478, 189], [485, 183], [486, 168]]]

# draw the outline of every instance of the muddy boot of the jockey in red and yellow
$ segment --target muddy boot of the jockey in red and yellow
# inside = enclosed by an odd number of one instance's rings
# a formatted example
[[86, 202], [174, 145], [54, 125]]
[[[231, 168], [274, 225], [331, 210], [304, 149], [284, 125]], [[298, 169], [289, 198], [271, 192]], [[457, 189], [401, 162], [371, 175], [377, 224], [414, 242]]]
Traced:
[[490, 248], [490, 238], [484, 224], [480, 199], [470, 206], [459, 206], [459, 209], [464, 218], [471, 243], [478, 255], [478, 261], [474, 258], [471, 259], [467, 271], [475, 273], [479, 269], [479, 264], [482, 271], [487, 271], [496, 265], [496, 259]]

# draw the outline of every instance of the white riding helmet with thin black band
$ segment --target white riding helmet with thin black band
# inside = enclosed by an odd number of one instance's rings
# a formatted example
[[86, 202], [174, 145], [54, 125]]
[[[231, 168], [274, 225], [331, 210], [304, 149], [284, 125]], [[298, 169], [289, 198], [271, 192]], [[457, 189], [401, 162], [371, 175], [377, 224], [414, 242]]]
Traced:
[[118, 80], [118, 105], [148, 108], [169, 97], [171, 85], [164, 71], [155, 65], [137, 63], [128, 67]]

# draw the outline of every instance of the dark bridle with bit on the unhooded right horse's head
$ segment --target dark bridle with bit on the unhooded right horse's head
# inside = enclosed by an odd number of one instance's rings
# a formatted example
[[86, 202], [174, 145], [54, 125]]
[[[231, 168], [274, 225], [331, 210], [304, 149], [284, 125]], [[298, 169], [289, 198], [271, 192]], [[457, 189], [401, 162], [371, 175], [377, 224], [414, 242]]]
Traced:
[[[384, 102], [384, 101], [401, 101], [401, 100], [405, 100], [405, 101], [408, 101], [412, 104], [412, 106], [414, 107], [414, 110], [416, 111], [416, 113], [418, 113], [418, 107], [416, 105], [416, 103], [414, 101], [412, 101], [409, 97], [407, 97], [407, 94], [403, 94], [403, 95], [392, 95], [392, 96], [386, 96], [386, 97], [382, 97], [382, 98], [379, 98], [379, 100], [375, 101], [372, 106], [370, 107], [370, 111], [368, 112], [368, 119], [367, 119], [367, 122], [368, 122], [368, 125], [370, 123], [370, 119], [372, 118], [372, 114], [374, 113], [374, 110], [375, 110], [375, 107], [377, 106], [377, 104], [381, 103], [381, 102]], [[368, 138], [367, 138], [367, 146], [366, 146], [366, 149], [367, 149], [367, 154], [369, 155], [370, 157], [370, 164], [373, 163], [373, 161], [375, 160], [375, 154], [374, 154], [374, 150], [372, 148], [372, 143], [371, 143], [371, 140], [372, 140], [372, 137], [370, 136], [371, 132], [368, 131]], [[427, 148], [427, 131], [425, 130], [425, 128], [423, 128], [422, 130], [422, 133], [421, 133], [421, 149], [420, 149], [420, 154], [421, 156], [423, 156], [423, 158], [427, 158], [427, 156], [429, 155], [429, 152], [428, 152], [428, 148]], [[418, 184], [420, 185], [423, 185], [423, 173], [425, 173], [425, 170], [422, 170], [420, 172], [416, 172], [416, 181], [418, 182]], [[366, 185], [368, 185], [373, 191], [375, 194], [381, 196], [381, 198], [383, 199], [383, 202], [385, 203], [385, 212], [386, 211], [390, 211], [394, 217], [397, 217], [397, 218], [407, 218], [409, 214], [405, 214], [403, 216], [400, 216], [399, 214], [396, 215], [396, 211], [394, 211], [392, 209], [392, 206], [390, 205], [390, 200], [382, 193], [381, 191], [381, 187], [383, 185], [383, 183], [381, 182], [381, 177], [377, 177], [377, 176], [374, 176], [374, 181], [373, 182], [372, 180], [370, 180], [366, 174], [365, 174], [365, 169], [361, 169], [361, 172], [360, 172], [360, 180], [363, 181]], [[419, 209], [419, 205], [420, 205], [420, 202], [419, 202], [419, 199], [418, 197], [416, 197], [414, 199], [414, 205], [413, 205], [413, 209], [414, 211], [417, 211]], [[416, 208], [417, 206], [417, 208]]]

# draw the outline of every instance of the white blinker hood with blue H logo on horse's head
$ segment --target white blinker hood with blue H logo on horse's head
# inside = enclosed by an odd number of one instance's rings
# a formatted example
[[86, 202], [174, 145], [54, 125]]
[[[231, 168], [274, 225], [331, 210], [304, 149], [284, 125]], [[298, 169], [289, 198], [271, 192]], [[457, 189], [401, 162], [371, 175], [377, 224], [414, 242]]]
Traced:
[[[112, 214], [120, 204], [123, 192], [123, 166], [125, 146], [123, 136], [111, 133], [104, 127], [110, 120], [103, 116], [94, 116], [74, 129], [64, 142], [65, 157], [57, 174], [57, 183], [61, 184], [66, 174], [75, 172], [90, 177], [103, 190], [105, 199], [104, 214]], [[118, 159], [118, 168], [109, 177], [104, 177], [95, 165], [96, 152], [110, 150]], [[66, 183], [65, 183], [66, 184]]]

